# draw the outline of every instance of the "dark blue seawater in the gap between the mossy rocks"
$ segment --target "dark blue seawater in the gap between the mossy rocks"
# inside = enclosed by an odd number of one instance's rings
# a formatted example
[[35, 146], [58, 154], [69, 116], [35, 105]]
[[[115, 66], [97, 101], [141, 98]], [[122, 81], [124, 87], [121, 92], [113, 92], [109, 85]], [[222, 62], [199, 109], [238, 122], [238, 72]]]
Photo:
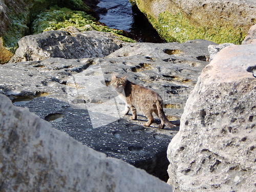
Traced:
[[129, 0], [99, 0], [99, 8], [105, 8], [99, 14], [99, 22], [118, 30], [130, 32], [141, 42], [165, 42], [148, 22], [143, 13]]

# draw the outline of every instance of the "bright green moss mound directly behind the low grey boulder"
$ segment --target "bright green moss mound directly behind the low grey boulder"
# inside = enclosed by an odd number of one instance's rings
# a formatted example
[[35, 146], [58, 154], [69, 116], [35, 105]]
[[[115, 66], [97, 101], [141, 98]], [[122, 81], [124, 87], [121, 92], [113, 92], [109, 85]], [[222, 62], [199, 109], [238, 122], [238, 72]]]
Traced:
[[135, 42], [134, 40], [122, 36], [119, 30], [98, 25], [95, 18], [82, 11], [72, 11], [68, 8], [51, 7], [49, 10], [41, 11], [31, 25], [32, 34], [38, 34], [49, 30], [65, 29], [69, 26], [76, 27], [79, 31], [96, 30], [113, 33], [120, 40]]

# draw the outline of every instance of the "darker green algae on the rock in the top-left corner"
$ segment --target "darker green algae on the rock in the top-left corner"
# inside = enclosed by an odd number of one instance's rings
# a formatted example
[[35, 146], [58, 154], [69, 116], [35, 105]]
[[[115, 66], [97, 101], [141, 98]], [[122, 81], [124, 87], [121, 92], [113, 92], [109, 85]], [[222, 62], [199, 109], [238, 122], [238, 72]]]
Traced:
[[14, 52], [17, 48], [17, 42], [23, 36], [30, 34], [29, 25], [34, 17], [41, 11], [49, 9], [50, 6], [66, 6], [72, 10], [89, 11], [89, 7], [81, 0], [27, 0], [27, 1], [6, 1], [3, 3], [3, 13], [6, 13], [8, 27], [3, 25], [0, 28], [4, 46]]

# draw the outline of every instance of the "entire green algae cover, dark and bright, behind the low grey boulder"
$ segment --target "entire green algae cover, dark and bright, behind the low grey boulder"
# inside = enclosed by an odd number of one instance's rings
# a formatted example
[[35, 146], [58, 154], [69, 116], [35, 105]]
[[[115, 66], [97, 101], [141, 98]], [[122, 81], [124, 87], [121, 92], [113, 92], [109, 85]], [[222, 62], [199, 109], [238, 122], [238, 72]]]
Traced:
[[[53, 6], [55, 6], [55, 9], [53, 8], [53, 13], [50, 13], [50, 7]], [[3, 10], [1, 11], [3, 11], [3, 16], [6, 16], [6, 19], [0, 23], [0, 34], [4, 47], [12, 53], [17, 49], [17, 42], [20, 38], [31, 33], [40, 33], [46, 28], [51, 30], [76, 25], [81, 31], [90, 29], [112, 32], [119, 36], [122, 34], [121, 31], [111, 30], [105, 26], [97, 26], [95, 19], [88, 14], [91, 12], [90, 8], [81, 0], [13, 0], [12, 2], [3, 3], [2, 7]], [[68, 25], [69, 22], [70, 25]], [[85, 27], [83, 30], [82, 26], [87, 24], [89, 29]], [[134, 42], [132, 39], [123, 36], [120, 36], [120, 40]]]

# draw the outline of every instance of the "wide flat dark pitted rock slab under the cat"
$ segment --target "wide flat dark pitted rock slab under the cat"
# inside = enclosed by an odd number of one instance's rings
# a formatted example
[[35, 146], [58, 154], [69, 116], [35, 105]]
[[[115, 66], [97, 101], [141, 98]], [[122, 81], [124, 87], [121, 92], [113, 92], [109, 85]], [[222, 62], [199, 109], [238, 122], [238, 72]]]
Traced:
[[[167, 181], [167, 146], [178, 131], [187, 97], [208, 64], [211, 44], [216, 45], [206, 40], [135, 43], [108, 58], [8, 63], [0, 66], [0, 93], [83, 144]], [[144, 116], [138, 121], [121, 116], [124, 104], [108, 87], [111, 73], [157, 91], [176, 129], [158, 129], [158, 118], [151, 127], [143, 127]]]

